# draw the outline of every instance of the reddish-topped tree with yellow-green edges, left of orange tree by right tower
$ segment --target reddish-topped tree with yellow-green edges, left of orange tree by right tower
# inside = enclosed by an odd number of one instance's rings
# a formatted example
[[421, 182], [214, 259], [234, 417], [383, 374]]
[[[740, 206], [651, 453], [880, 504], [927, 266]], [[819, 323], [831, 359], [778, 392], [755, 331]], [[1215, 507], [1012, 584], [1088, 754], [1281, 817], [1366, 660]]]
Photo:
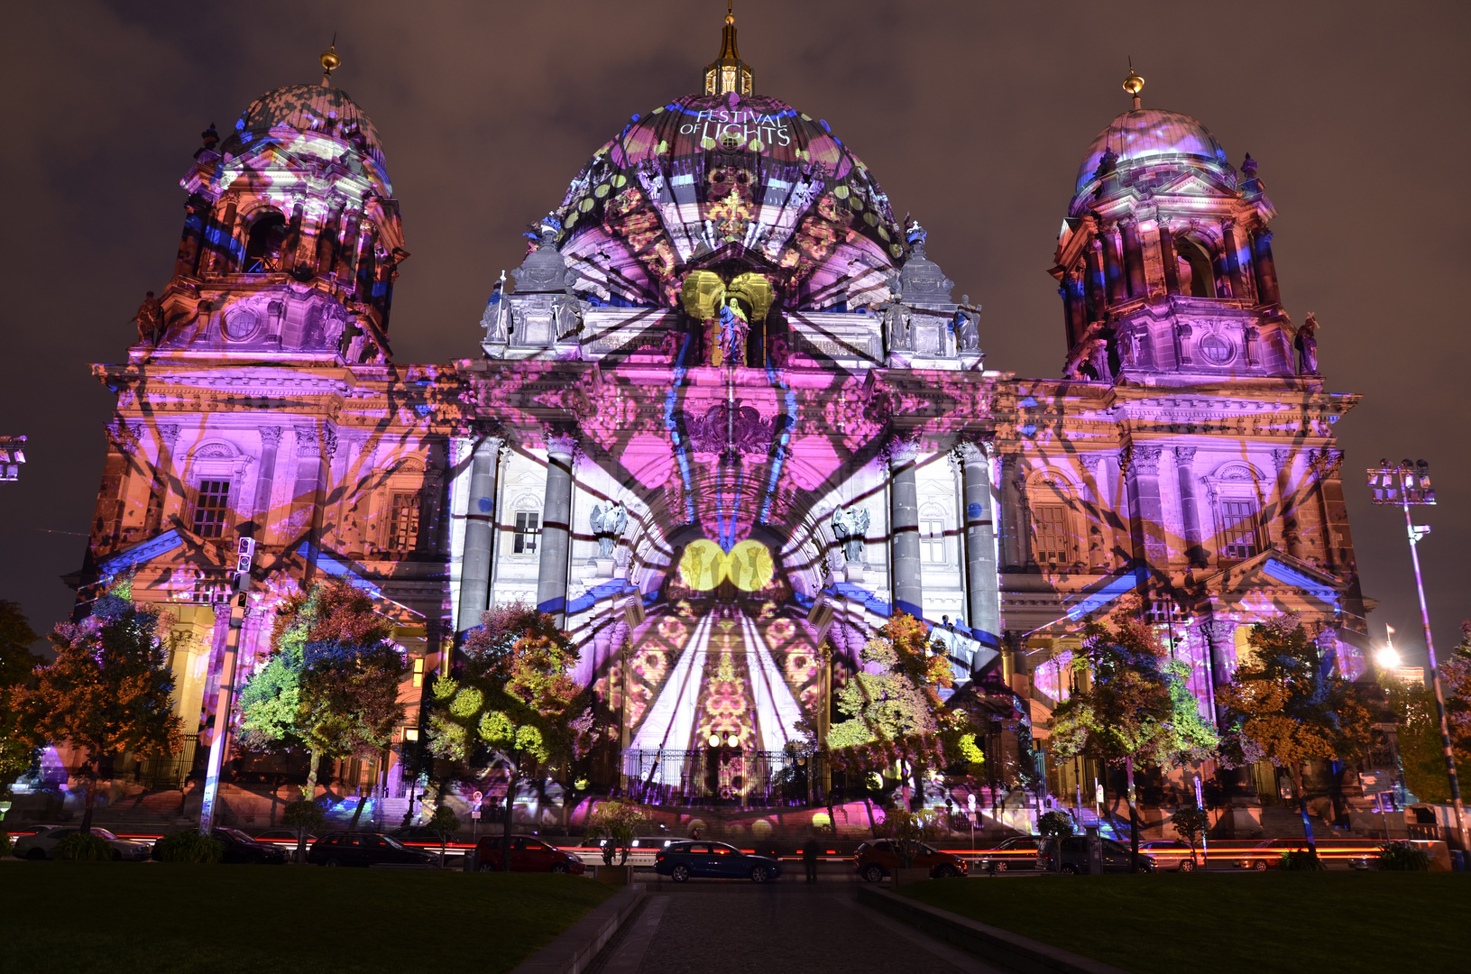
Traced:
[[1214, 756], [1217, 734], [1200, 719], [1186, 684], [1189, 666], [1169, 662], [1155, 630], [1130, 606], [1112, 624], [1089, 622], [1083, 652], [1072, 665], [1080, 689], [1052, 714], [1059, 759], [1086, 755], [1102, 764], [1124, 762], [1130, 781], [1128, 818], [1139, 852], [1134, 765], [1175, 768]]

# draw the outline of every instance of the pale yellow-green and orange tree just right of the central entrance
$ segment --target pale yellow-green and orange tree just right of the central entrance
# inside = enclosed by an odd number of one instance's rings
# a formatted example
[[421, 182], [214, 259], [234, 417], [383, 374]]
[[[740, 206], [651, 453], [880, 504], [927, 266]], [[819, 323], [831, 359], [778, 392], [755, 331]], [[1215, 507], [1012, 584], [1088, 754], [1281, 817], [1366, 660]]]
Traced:
[[946, 767], [946, 739], [958, 746], [965, 722], [940, 699], [940, 690], [953, 686], [950, 664], [931, 652], [925, 625], [903, 612], [865, 643], [861, 661], [836, 694], [846, 719], [828, 728], [822, 744], [833, 765], [850, 772], [897, 764], [915, 786], [911, 808], [922, 808], [925, 777]]

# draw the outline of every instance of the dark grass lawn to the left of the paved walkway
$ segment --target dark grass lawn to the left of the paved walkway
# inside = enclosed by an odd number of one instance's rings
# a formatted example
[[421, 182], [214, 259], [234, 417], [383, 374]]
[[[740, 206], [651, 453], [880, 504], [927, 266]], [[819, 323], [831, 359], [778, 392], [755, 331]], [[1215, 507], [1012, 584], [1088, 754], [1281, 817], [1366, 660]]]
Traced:
[[0, 864], [0, 970], [509, 971], [613, 890], [571, 875]]

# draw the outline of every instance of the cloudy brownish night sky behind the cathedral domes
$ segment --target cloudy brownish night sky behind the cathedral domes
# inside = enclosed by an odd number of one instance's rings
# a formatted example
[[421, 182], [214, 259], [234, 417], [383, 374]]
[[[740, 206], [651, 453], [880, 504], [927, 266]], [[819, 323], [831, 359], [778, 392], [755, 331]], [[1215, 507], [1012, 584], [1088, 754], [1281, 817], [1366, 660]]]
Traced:
[[[394, 296], [399, 362], [478, 355], [480, 313], [527, 224], [560, 203], [634, 112], [693, 91], [725, 4], [16, 3], [6, 26], [0, 433], [29, 436], [0, 484], [0, 599], [38, 631], [66, 616], [104, 455], [107, 391], [91, 362], [135, 337], [172, 272], [178, 179], [199, 132], [259, 94], [337, 84], [382, 135], [412, 257]], [[1272, 249], [1294, 321], [1317, 312], [1330, 390], [1364, 396], [1337, 427], [1370, 625], [1422, 653], [1397, 509], [1364, 468], [1430, 461], [1440, 506], [1422, 544], [1442, 653], [1471, 616], [1471, 4], [1139, 0], [975, 3], [738, 0], [756, 91], [833, 131], [896, 216], [930, 231], [955, 296], [984, 305], [990, 368], [1055, 377], [1065, 341], [1052, 263], [1093, 135], [1128, 107], [1193, 115], [1233, 165], [1261, 162], [1280, 210]], [[1409, 656], [1414, 652], [1408, 653]], [[1415, 662], [1408, 659], [1408, 662]]]

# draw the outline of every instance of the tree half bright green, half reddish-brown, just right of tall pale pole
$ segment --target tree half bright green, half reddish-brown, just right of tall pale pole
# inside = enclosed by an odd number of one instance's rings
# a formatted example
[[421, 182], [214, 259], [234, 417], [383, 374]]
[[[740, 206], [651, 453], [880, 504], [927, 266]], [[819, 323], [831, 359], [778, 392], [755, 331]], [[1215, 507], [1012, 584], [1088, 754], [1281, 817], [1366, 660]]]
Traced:
[[[310, 752], [302, 789], [307, 800], [324, 758], [380, 758], [403, 722], [406, 664], [391, 634], [372, 599], [346, 581], [321, 581], [287, 599], [271, 631], [271, 656], [240, 694], [241, 744]], [[359, 814], [362, 806], [359, 800]]]

